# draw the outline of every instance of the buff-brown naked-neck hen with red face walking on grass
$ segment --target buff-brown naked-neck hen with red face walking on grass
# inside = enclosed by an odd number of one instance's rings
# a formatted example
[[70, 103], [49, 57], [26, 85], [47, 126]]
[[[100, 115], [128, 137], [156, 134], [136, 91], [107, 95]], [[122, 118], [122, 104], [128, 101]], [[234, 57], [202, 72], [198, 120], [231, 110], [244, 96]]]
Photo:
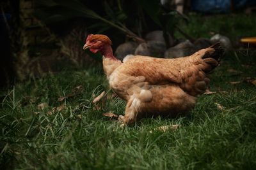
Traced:
[[127, 101], [125, 116], [120, 116], [124, 125], [147, 116], [187, 113], [207, 89], [207, 73], [219, 65], [223, 54], [220, 43], [216, 43], [188, 57], [128, 55], [121, 61], [113, 55], [111, 40], [101, 34], [90, 34], [83, 48], [102, 53], [110, 88]]

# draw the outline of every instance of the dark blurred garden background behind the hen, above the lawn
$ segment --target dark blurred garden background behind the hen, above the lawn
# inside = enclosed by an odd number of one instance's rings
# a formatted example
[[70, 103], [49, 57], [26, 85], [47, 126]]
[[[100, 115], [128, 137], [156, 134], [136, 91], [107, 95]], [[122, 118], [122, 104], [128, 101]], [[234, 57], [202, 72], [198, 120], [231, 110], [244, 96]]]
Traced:
[[[118, 59], [127, 54], [175, 58], [216, 41], [236, 57], [255, 54], [253, 0], [6, 0], [0, 14], [0, 86], [45, 73], [99, 66], [83, 51], [88, 34], [106, 34]], [[247, 53], [247, 54], [246, 54]]]

